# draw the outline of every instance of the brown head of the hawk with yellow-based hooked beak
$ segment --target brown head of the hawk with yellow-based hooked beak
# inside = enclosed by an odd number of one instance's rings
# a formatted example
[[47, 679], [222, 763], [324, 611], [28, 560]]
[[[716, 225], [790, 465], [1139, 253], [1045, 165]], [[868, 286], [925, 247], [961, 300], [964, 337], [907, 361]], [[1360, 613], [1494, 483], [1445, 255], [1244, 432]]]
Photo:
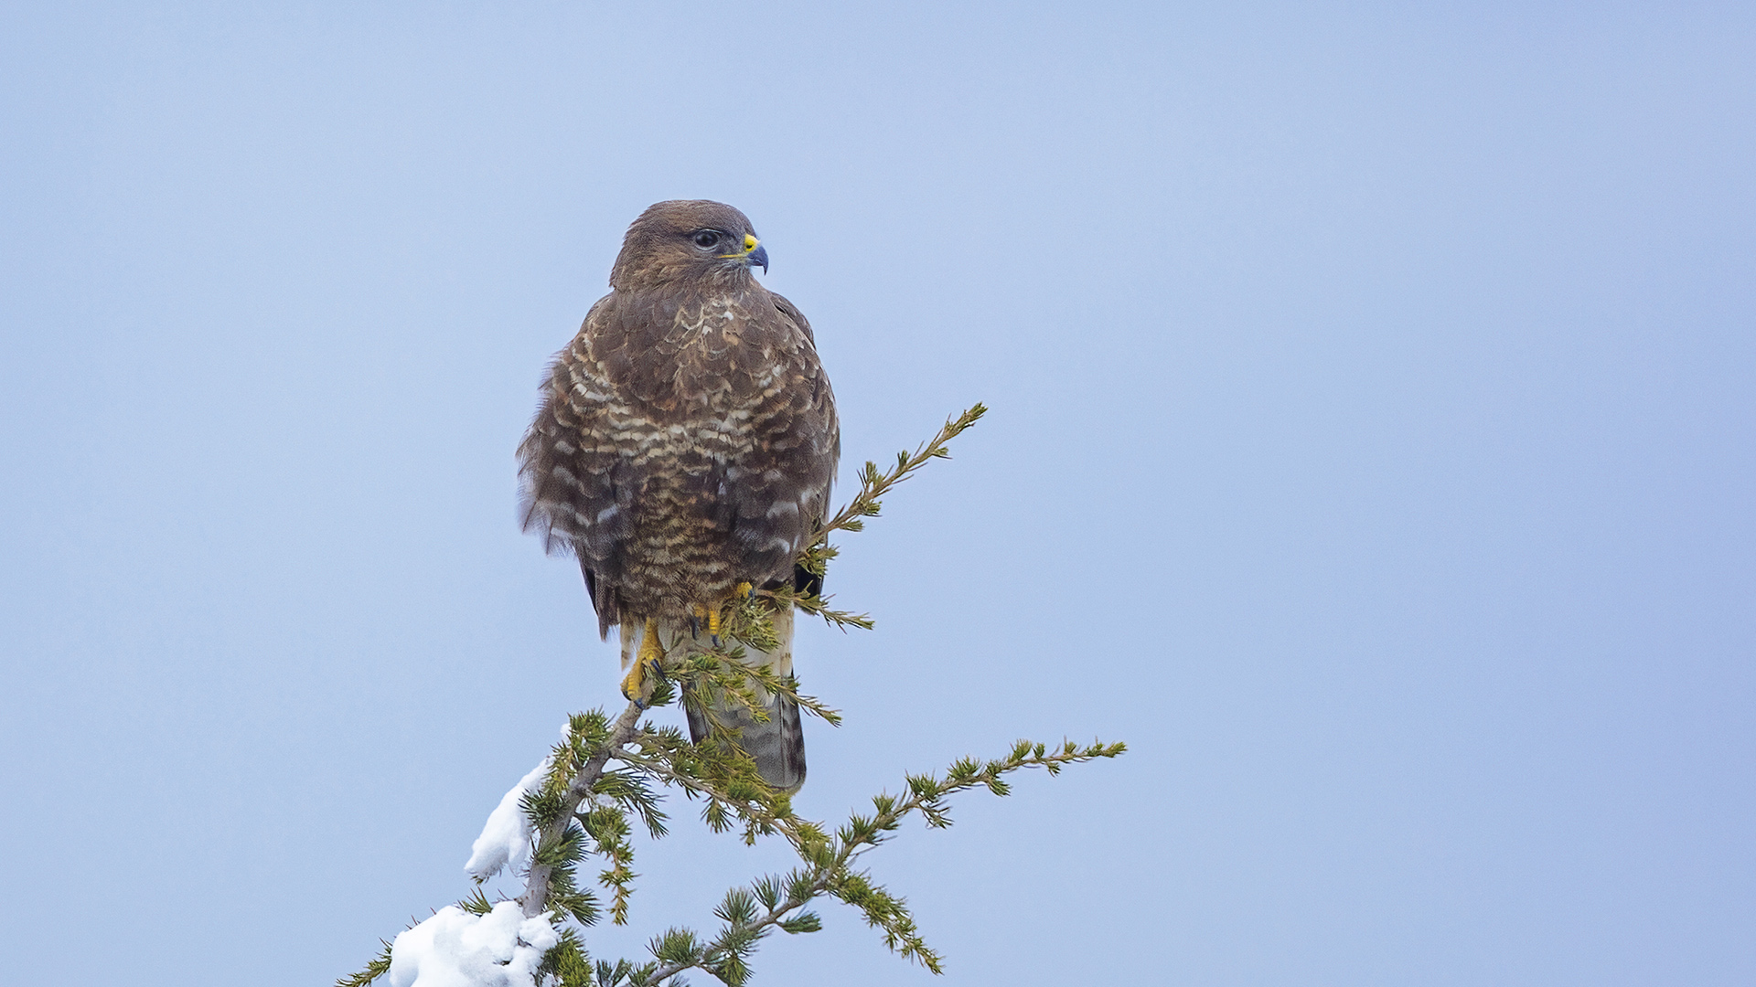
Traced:
[[674, 198], [634, 220], [609, 285], [629, 290], [690, 279], [730, 286], [748, 283], [752, 267], [767, 272], [767, 251], [748, 216], [723, 202]]

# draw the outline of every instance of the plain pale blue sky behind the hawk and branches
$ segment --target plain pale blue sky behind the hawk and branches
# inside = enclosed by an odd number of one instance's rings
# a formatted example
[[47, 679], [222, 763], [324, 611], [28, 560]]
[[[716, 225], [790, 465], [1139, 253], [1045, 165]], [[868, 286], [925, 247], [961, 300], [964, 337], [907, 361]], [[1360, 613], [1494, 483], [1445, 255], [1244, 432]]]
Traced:
[[[752, 216], [846, 467], [801, 806], [941, 983], [1756, 980], [1737, 4], [11, 4], [0, 955], [325, 983], [615, 697], [515, 523], [658, 198]], [[636, 954], [780, 857], [641, 848]], [[934, 982], [850, 911], [760, 983]]]

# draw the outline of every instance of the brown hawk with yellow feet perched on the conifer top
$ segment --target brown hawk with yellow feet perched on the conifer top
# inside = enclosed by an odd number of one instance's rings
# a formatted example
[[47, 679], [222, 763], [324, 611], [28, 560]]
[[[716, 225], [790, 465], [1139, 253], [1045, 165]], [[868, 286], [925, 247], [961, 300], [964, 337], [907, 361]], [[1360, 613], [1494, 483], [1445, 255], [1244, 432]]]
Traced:
[[[841, 430], [811, 325], [757, 283], [757, 265], [767, 270], [767, 251], [730, 205], [641, 213], [518, 446], [525, 530], [578, 557], [599, 634], [622, 629], [630, 699], [650, 688], [651, 660], [715, 636], [736, 594], [810, 580], [794, 558], [829, 504]], [[745, 659], [780, 676], [792, 671], [785, 609], [780, 646]], [[766, 724], [723, 699], [713, 717], [741, 731], [769, 785], [794, 790], [799, 710], [764, 699]], [[709, 724], [690, 710], [688, 727], [699, 743]]]

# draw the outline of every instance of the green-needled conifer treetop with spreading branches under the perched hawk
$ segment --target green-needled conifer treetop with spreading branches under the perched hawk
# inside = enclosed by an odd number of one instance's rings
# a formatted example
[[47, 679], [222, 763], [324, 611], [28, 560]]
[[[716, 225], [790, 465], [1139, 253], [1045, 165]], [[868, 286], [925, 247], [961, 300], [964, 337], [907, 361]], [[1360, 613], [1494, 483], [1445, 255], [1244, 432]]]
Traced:
[[[880, 497], [929, 460], [945, 458], [946, 443], [975, 425], [985, 411], [976, 404], [948, 420], [932, 441], [913, 453], [899, 453], [889, 471], [867, 462], [860, 472], [859, 494], [818, 529], [799, 564], [822, 576], [836, 557], [829, 536], [860, 530], [864, 518], [878, 515]], [[752, 594], [730, 604], [725, 616], [729, 645], [708, 650], [674, 648], [660, 662], [646, 706], [681, 701], [706, 711], [730, 702], [760, 722], [767, 718], [760, 695], [769, 694], [785, 697], [825, 722], [839, 724], [841, 715], [815, 697], [799, 694], [792, 676], [783, 678], [766, 666], [743, 660], [745, 645], [762, 652], [780, 646], [773, 615], [787, 606], [822, 616], [834, 627], [871, 627], [869, 616], [831, 609], [829, 597], [801, 594], [790, 585]], [[910, 815], [918, 815], [929, 829], [950, 825], [946, 799], [957, 792], [980, 787], [1006, 796], [1011, 790], [1006, 774], [1015, 771], [1041, 767], [1057, 774], [1068, 764], [1119, 757], [1126, 750], [1120, 743], [1082, 746], [1064, 741], [1050, 748], [1018, 741], [1006, 757], [966, 757], [943, 774], [906, 774], [901, 794], [874, 796], [869, 815], [853, 813], [843, 825], [829, 831], [824, 824], [799, 817], [787, 794], [762, 782], [755, 762], [738, 746], [736, 732], [716, 717], [701, 717], [708, 724], [708, 736], [701, 743], [690, 743], [676, 727], [643, 724], [646, 706], [630, 702], [615, 720], [602, 710], [572, 715], [564, 739], [550, 752], [541, 782], [520, 799], [520, 810], [530, 824], [530, 864], [523, 875], [523, 892], [515, 899], [518, 911], [525, 919], [548, 922], [550, 929], [557, 922], [565, 924], [565, 919], [578, 924], [560, 927], [555, 945], [543, 954], [537, 968], [541, 987], [681, 987], [680, 975], [688, 969], [704, 969], [730, 987], [743, 987], [752, 976], [750, 955], [769, 933], [822, 929], [822, 919], [806, 910], [820, 897], [834, 897], [859, 910], [883, 934], [892, 952], [941, 973], [943, 957], [922, 938], [908, 903], [876, 883], [869, 871], [859, 869], [860, 857], [887, 843]], [[611, 920], [625, 924], [637, 876], [632, 869], [634, 820], [651, 838], [666, 836], [662, 789], [676, 790], [690, 801], [699, 799], [702, 822], [715, 832], [741, 827], [745, 843], [767, 836], [787, 839], [799, 866], [727, 890], [715, 908], [720, 926], [711, 938], [692, 929], [667, 929], [648, 943], [651, 961], [594, 961], [579, 929], [594, 926], [602, 908], [595, 892], [578, 887], [576, 871], [587, 857], [595, 855], [604, 862], [597, 885], [609, 894]], [[486, 878], [478, 878], [478, 885], [481, 880]], [[495, 903], [488, 901], [481, 887], [458, 906], [478, 917], [495, 911]], [[392, 952], [392, 943], [385, 943], [365, 969], [337, 980], [337, 987], [367, 987], [388, 973]]]

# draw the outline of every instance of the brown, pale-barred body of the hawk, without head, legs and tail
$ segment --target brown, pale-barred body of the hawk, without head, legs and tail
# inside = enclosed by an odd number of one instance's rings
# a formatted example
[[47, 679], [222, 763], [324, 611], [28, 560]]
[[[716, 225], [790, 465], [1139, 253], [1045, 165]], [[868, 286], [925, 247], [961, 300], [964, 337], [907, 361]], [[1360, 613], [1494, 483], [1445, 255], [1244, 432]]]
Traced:
[[760, 285], [623, 292], [562, 349], [518, 450], [523, 523], [579, 558], [599, 632], [792, 576], [829, 502], [834, 395]]

